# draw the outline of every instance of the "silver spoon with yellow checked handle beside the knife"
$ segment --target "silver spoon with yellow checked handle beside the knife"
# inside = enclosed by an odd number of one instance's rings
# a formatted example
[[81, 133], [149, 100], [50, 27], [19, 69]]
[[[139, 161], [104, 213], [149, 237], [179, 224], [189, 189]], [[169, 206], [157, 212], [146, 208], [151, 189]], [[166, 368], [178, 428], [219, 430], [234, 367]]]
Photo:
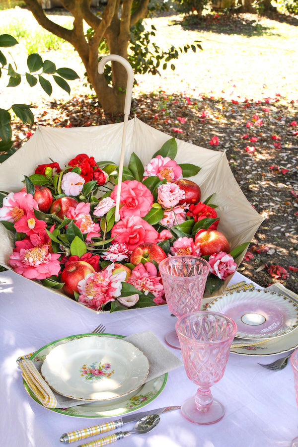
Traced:
[[119, 439], [124, 438], [128, 435], [144, 435], [145, 433], [153, 430], [154, 427], [159, 423], [160, 416], [158, 414], [150, 414], [149, 416], [145, 416], [140, 419], [134, 426], [132, 430], [129, 432], [118, 432], [113, 435], [105, 436], [104, 438], [99, 438], [96, 441], [91, 441], [91, 443], [82, 444], [78, 447], [101, 447], [106, 446], [107, 444], [112, 444]]

